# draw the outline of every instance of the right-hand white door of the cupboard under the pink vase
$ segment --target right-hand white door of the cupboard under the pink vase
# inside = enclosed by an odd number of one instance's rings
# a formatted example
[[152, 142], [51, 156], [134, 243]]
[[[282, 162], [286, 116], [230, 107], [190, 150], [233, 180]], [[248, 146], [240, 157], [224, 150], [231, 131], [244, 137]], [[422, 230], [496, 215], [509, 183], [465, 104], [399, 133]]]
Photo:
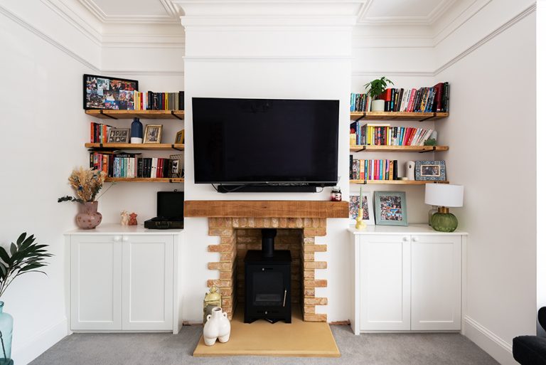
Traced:
[[173, 329], [173, 261], [173, 236], [123, 237], [122, 329]]

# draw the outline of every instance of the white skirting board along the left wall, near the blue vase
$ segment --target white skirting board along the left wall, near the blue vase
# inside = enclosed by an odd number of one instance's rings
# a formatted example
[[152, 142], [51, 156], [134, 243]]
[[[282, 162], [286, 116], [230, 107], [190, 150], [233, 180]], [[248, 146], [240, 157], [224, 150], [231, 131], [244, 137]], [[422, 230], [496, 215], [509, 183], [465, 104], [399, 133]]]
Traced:
[[[17, 330], [17, 329], [15, 329]], [[43, 352], [68, 335], [68, 319], [63, 318], [58, 324], [36, 334], [26, 344], [11, 354], [17, 365], [26, 365]]]

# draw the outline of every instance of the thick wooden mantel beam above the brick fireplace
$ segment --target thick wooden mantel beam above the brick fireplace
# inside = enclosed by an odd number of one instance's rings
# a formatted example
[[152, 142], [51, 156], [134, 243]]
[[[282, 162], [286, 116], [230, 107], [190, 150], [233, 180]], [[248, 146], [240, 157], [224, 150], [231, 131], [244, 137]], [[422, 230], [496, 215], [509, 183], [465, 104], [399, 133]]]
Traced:
[[348, 218], [348, 201], [190, 200], [186, 217]]

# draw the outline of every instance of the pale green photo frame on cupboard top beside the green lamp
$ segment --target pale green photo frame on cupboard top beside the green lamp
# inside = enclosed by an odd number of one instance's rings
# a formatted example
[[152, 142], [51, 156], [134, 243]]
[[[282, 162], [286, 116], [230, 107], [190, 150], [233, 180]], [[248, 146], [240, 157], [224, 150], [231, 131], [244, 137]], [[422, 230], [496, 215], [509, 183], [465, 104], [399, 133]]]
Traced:
[[378, 226], [407, 226], [406, 193], [404, 191], [375, 191], [375, 224]]

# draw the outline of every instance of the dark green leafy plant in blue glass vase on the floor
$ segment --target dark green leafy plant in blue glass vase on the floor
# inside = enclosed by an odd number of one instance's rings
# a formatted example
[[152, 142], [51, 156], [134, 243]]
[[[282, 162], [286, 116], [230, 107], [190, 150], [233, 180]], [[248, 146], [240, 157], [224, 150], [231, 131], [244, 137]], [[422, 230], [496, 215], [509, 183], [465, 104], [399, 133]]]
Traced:
[[[45, 248], [48, 245], [34, 243], [34, 235], [21, 234], [16, 243], [11, 243], [8, 250], [0, 246], [0, 297], [4, 294], [15, 278], [26, 273], [43, 273], [45, 258], [52, 254]], [[0, 301], [0, 365], [11, 365], [11, 334], [14, 328], [14, 318], [4, 312], [4, 302]]]

